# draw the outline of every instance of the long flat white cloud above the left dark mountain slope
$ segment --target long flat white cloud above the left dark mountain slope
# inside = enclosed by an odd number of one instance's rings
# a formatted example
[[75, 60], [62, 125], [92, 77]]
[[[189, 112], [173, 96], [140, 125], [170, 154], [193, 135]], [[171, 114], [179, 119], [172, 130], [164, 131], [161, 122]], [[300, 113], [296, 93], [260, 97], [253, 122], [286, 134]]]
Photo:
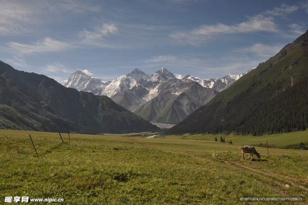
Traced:
[[17, 42], [8, 43], [7, 49], [19, 54], [59, 52], [74, 47], [72, 44], [46, 37], [34, 44], [21, 44]]

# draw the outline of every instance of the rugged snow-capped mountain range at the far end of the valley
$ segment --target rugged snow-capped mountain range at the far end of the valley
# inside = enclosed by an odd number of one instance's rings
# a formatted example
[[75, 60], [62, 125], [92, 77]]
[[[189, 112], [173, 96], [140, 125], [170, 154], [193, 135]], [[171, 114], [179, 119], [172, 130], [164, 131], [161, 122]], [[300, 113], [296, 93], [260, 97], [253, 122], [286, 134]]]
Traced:
[[148, 121], [176, 124], [246, 73], [206, 80], [191, 75], [183, 77], [166, 68], [152, 74], [136, 68], [127, 75], [104, 82], [76, 70], [61, 84], [79, 91], [106, 95]]

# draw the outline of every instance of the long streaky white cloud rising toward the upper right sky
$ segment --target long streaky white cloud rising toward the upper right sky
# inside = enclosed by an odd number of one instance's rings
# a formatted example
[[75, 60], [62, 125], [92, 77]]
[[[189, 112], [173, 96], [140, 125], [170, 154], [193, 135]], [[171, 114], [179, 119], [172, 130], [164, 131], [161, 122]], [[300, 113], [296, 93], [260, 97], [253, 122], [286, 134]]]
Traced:
[[202, 25], [192, 31], [176, 32], [170, 37], [172, 42], [180, 45], [200, 45], [205, 40], [219, 34], [249, 33], [256, 31], [277, 32], [278, 28], [272, 17], [257, 15], [248, 21], [232, 26], [218, 23], [216, 25]]

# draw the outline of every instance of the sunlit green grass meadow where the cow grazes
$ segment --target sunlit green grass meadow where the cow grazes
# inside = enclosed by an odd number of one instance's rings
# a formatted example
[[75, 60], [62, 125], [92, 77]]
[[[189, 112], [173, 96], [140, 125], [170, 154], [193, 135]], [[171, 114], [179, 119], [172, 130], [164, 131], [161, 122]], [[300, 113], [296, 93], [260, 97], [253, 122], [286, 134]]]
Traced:
[[0, 130], [0, 204], [6, 196], [64, 199], [56, 204], [288, 204], [240, 197], [301, 196], [290, 204], [307, 204], [308, 151], [269, 149], [268, 156], [256, 148], [255, 161], [238, 153], [240, 145], [264, 140], [307, 142], [307, 133], [225, 136], [232, 145], [213, 141], [220, 135], [71, 134], [69, 142], [63, 133], [62, 143], [58, 133]]

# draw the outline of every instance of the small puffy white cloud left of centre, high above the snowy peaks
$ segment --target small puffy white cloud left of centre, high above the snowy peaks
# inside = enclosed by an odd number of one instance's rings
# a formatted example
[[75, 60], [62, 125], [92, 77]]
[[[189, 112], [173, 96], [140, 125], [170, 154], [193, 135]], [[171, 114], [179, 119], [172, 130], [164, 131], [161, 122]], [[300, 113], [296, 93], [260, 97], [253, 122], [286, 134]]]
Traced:
[[80, 31], [79, 36], [85, 39], [101, 39], [108, 34], [116, 34], [118, 28], [112, 23], [103, 23], [101, 27], [95, 27], [94, 31]]

